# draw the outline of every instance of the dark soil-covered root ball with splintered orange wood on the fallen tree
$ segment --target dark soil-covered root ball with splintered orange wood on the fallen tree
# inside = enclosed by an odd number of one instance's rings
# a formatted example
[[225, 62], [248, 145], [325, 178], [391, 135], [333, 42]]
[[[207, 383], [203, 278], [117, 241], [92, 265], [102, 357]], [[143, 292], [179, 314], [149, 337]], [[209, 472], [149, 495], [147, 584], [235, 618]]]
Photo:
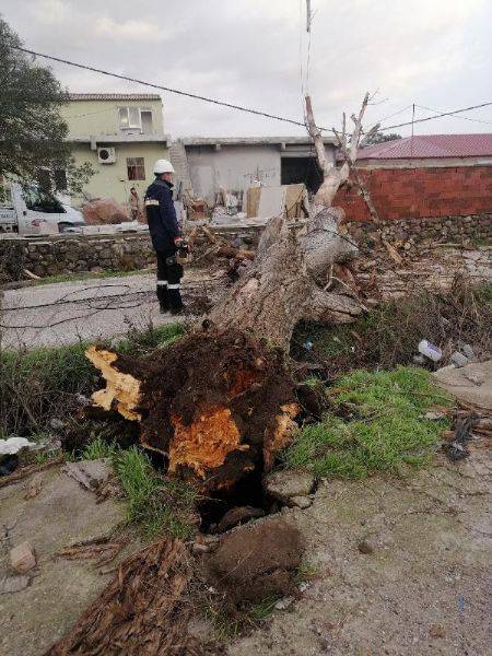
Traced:
[[237, 330], [196, 332], [136, 360], [91, 348], [107, 382], [93, 398], [140, 423], [168, 470], [227, 489], [270, 469], [300, 411], [284, 356]]

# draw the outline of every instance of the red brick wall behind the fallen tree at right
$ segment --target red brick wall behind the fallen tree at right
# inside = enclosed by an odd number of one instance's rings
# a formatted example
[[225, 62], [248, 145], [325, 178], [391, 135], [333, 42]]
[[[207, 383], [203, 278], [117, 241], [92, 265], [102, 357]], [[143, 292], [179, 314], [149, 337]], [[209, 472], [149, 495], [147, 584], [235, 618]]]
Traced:
[[[492, 166], [360, 168], [382, 219], [492, 213]], [[371, 219], [353, 186], [338, 191], [348, 221]]]

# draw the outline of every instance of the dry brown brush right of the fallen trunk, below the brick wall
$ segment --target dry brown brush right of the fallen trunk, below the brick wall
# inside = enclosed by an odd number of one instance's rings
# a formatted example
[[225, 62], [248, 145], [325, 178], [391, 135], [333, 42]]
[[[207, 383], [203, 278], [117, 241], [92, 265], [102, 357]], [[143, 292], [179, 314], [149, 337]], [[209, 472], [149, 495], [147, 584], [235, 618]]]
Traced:
[[292, 353], [306, 359], [303, 344], [312, 341], [315, 356], [326, 359], [335, 375], [358, 367], [411, 364], [421, 339], [448, 354], [459, 342], [470, 343], [477, 354], [487, 356], [492, 350], [491, 289], [456, 279], [448, 293], [422, 292], [389, 301], [348, 326], [304, 324], [294, 333]]

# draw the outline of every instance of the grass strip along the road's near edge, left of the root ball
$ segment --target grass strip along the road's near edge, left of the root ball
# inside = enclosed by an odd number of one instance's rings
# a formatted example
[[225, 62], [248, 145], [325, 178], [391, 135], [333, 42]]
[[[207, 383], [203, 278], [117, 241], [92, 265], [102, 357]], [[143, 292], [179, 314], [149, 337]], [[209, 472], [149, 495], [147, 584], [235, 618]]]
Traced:
[[[114, 348], [126, 355], [144, 355], [184, 332], [181, 324], [133, 328]], [[0, 437], [49, 432], [52, 418], [70, 414], [77, 394], [90, 395], [101, 386], [99, 373], [85, 358], [90, 343], [0, 351]]]

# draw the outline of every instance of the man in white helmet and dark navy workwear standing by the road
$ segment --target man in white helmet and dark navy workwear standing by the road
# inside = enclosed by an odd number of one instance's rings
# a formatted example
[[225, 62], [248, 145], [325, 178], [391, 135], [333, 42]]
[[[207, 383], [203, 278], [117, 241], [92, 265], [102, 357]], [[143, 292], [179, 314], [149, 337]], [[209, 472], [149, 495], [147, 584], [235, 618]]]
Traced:
[[154, 165], [155, 180], [145, 191], [144, 207], [149, 232], [157, 257], [157, 300], [161, 313], [178, 314], [183, 311], [180, 280], [183, 267], [176, 253], [183, 248], [176, 210], [173, 202], [174, 167], [167, 160]]

